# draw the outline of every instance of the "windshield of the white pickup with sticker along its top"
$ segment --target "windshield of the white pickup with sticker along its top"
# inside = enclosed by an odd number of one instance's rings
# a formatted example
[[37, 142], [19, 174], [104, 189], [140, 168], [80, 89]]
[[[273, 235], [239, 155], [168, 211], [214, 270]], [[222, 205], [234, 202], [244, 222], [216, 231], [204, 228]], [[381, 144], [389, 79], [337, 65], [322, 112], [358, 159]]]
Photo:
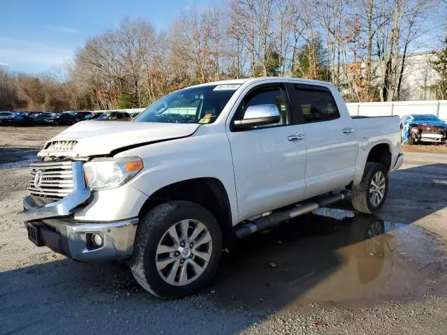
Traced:
[[175, 91], [161, 98], [133, 122], [212, 124], [240, 84], [207, 85]]

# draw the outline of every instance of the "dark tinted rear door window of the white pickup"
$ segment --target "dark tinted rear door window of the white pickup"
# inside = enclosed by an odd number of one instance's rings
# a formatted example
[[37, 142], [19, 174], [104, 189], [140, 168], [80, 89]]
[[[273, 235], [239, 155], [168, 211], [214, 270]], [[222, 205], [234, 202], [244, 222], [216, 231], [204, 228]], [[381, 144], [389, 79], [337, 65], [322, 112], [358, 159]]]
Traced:
[[302, 84], [295, 85], [295, 89], [305, 123], [339, 119], [339, 110], [329, 89]]

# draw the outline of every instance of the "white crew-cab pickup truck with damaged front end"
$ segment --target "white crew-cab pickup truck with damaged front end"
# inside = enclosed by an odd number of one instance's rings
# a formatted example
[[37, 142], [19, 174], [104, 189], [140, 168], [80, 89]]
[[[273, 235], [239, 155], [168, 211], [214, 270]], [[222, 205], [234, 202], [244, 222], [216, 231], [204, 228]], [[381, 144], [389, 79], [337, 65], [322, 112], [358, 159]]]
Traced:
[[125, 261], [163, 298], [203, 288], [235, 238], [346, 197], [378, 211], [403, 158], [399, 117], [351, 118], [331, 84], [280, 77], [181, 89], [131, 122], [82, 121], [38, 156], [29, 239]]

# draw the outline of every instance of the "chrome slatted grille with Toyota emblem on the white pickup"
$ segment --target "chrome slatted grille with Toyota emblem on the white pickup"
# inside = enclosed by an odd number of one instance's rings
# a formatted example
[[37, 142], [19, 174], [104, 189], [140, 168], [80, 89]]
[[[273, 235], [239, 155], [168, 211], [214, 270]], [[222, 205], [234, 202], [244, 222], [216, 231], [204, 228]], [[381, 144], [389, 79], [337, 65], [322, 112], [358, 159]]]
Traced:
[[[39, 198], [61, 199], [73, 192], [71, 161], [32, 163], [28, 190]], [[36, 174], [39, 174], [36, 180]]]

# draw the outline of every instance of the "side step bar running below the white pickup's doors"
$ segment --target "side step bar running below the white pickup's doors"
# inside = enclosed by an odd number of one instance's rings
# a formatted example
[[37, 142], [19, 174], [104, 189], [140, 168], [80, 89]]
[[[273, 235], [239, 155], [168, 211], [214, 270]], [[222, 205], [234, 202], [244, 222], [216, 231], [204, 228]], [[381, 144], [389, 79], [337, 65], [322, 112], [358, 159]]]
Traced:
[[316, 200], [315, 202], [306, 202], [303, 204], [297, 204], [293, 209], [287, 211], [281, 211], [278, 213], [271, 214], [269, 216], [262, 216], [261, 218], [256, 218], [254, 221], [249, 221], [244, 225], [236, 228], [235, 236], [237, 239], [243, 239], [248, 237], [255, 232], [261, 232], [263, 230], [268, 230], [274, 228], [281, 223], [290, 220], [291, 218], [296, 218], [297, 216], [309, 213], [315, 209], [328, 206], [334, 202], [339, 202], [341, 200], [349, 198], [350, 193], [347, 191], [342, 191], [334, 195], [328, 195], [323, 198]]

